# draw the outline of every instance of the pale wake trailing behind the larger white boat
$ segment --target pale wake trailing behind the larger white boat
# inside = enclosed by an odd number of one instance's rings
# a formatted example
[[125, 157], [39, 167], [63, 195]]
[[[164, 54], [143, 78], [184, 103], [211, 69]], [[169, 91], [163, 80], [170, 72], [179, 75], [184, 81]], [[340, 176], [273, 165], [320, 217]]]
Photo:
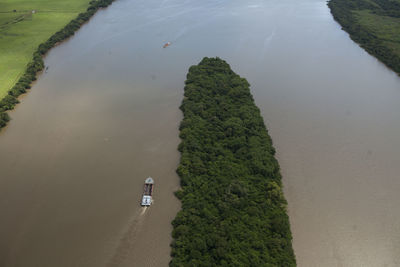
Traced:
[[131, 221], [128, 224], [128, 227], [125, 233], [122, 235], [121, 240], [119, 241], [118, 247], [114, 252], [114, 255], [111, 257], [108, 262], [108, 267], [116, 267], [121, 266], [122, 263], [127, 258], [128, 254], [132, 251], [133, 246], [136, 244], [136, 233], [140, 231], [143, 221], [144, 215], [146, 214], [147, 207], [141, 207], [133, 216]]

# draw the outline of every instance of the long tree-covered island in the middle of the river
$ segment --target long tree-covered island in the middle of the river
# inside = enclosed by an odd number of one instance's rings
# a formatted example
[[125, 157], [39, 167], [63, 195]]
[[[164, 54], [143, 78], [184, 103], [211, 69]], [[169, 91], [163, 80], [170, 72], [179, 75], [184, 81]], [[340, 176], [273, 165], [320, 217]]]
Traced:
[[248, 82], [204, 58], [181, 110], [170, 266], [295, 266], [279, 165]]

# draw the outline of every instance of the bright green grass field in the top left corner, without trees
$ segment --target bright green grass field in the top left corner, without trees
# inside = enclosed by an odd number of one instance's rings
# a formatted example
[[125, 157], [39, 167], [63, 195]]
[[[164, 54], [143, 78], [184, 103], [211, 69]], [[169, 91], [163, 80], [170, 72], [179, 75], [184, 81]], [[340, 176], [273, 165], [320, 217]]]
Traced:
[[38, 45], [85, 11], [89, 2], [90, 0], [0, 2], [0, 99], [24, 73], [26, 64]]

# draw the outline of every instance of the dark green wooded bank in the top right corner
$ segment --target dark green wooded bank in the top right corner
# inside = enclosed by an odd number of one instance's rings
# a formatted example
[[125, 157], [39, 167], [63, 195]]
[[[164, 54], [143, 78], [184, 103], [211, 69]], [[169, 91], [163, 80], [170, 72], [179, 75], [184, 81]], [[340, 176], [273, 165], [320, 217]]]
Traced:
[[400, 74], [400, 0], [331, 0], [328, 6], [355, 42]]

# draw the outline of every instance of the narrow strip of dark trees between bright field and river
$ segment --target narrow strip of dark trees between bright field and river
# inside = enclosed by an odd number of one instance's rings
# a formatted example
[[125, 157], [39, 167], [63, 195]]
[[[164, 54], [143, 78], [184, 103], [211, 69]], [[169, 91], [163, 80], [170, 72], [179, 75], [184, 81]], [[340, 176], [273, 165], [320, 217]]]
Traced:
[[[53, 34], [47, 41], [41, 43], [33, 53], [31, 61], [26, 66], [25, 72], [20, 76], [15, 85], [8, 91], [8, 94], [0, 100], [0, 129], [9, 121], [7, 110], [11, 110], [18, 103], [18, 96], [25, 93], [31, 87], [31, 83], [36, 80], [36, 74], [43, 70], [43, 55], [47, 53], [57, 43], [70, 37], [78, 30], [82, 24], [89, 20], [99, 9], [107, 7], [113, 0], [93, 0], [85, 12], [80, 13], [75, 19], [70, 21], [64, 28]], [[1, 39], [0, 39], [1, 41]]]

